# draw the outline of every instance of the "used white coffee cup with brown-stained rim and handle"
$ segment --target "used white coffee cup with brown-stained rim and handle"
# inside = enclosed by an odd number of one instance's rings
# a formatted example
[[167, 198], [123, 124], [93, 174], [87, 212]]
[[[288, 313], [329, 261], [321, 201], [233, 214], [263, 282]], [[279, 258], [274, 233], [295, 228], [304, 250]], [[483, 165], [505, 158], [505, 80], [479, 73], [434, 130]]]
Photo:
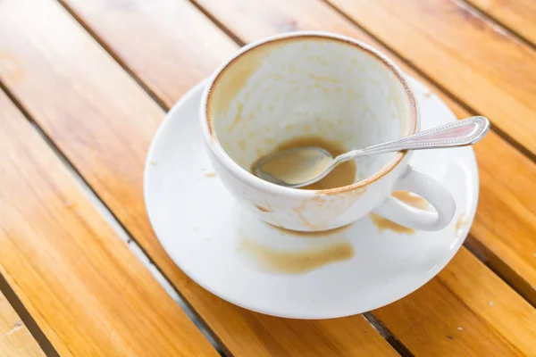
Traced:
[[[273, 225], [325, 230], [375, 212], [409, 228], [438, 230], [454, 215], [448, 190], [408, 164], [411, 151], [364, 156], [354, 184], [325, 190], [281, 187], [250, 173], [255, 160], [291, 137], [315, 134], [354, 148], [419, 130], [415, 95], [401, 71], [352, 38], [293, 32], [244, 46], [210, 79], [200, 121], [223, 184]], [[398, 201], [394, 190], [423, 196], [435, 212]]]

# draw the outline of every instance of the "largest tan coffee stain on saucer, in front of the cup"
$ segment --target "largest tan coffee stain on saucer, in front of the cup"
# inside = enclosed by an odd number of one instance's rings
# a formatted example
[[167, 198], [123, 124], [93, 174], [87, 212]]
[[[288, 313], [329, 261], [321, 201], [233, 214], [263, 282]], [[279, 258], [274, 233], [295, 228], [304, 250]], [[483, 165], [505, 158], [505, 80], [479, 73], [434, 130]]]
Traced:
[[254, 258], [263, 270], [286, 274], [305, 274], [333, 262], [348, 261], [354, 256], [354, 246], [348, 241], [292, 252], [244, 239], [240, 248]]

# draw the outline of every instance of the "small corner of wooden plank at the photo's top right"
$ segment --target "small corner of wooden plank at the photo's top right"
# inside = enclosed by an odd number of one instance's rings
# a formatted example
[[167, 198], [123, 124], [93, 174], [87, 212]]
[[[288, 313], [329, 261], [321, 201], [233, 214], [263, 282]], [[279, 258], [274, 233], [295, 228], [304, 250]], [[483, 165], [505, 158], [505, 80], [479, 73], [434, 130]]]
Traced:
[[465, 0], [482, 12], [536, 44], [536, 2], [534, 0]]

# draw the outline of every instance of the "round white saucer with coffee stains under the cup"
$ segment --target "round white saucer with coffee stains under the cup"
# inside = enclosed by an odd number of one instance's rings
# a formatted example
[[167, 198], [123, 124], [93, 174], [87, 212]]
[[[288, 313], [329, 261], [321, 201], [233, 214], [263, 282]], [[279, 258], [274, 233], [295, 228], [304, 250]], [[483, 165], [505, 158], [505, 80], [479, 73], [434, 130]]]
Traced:
[[[421, 129], [456, 120], [438, 96], [415, 79], [408, 80], [421, 107]], [[184, 95], [158, 129], [147, 156], [144, 193], [163, 248], [181, 270], [214, 295], [281, 317], [354, 315], [423, 286], [462, 245], [478, 201], [478, 171], [471, 147], [415, 152], [410, 162], [439, 179], [454, 195], [456, 215], [447, 228], [413, 235], [380, 233], [366, 217], [341, 233], [354, 246], [354, 256], [347, 261], [303, 274], [259, 269], [238, 249], [244, 231], [263, 244], [294, 248], [324, 244], [331, 238], [286, 235], [239, 209], [214, 177], [205, 153], [197, 120], [204, 84]], [[464, 225], [456, 231], [460, 217], [465, 217]]]

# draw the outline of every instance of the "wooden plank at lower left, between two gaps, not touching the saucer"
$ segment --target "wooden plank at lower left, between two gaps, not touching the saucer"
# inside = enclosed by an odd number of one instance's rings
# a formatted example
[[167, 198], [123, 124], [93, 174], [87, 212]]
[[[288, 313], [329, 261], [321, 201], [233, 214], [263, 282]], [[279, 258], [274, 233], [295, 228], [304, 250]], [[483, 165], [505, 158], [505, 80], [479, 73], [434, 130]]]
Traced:
[[217, 355], [0, 92], [0, 274], [62, 356]]

